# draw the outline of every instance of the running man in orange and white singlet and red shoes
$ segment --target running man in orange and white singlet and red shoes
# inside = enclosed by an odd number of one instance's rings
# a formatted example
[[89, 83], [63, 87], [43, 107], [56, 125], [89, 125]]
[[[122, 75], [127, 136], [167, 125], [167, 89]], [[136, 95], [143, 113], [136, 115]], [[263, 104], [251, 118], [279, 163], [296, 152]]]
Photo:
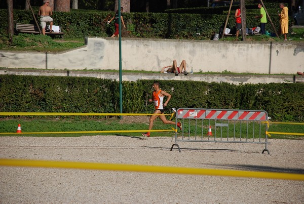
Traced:
[[[167, 120], [166, 116], [164, 115], [164, 107], [168, 105], [168, 102], [171, 99], [171, 95], [168, 94], [165, 91], [162, 91], [160, 89], [160, 83], [158, 81], [156, 81], [153, 84], [153, 89], [154, 89], [154, 91], [153, 91], [153, 99], [149, 99], [149, 102], [154, 102], [154, 106], [155, 106], [155, 109], [156, 109], [155, 112], [154, 112], [154, 114], [162, 114], [162, 115], [151, 115], [151, 117], [149, 119], [149, 121], [150, 121], [150, 123], [149, 123], [149, 130], [152, 130], [152, 128], [153, 128], [153, 121], [157, 117], [160, 117], [164, 124], [175, 125], [175, 122], [173, 122], [171, 120]], [[164, 96], [167, 97], [167, 100], [163, 104]], [[177, 127], [180, 130], [182, 130], [182, 126], [181, 126], [180, 122], [177, 123]], [[150, 132], [142, 133], [141, 135], [145, 136], [145, 137], [150, 137]]]

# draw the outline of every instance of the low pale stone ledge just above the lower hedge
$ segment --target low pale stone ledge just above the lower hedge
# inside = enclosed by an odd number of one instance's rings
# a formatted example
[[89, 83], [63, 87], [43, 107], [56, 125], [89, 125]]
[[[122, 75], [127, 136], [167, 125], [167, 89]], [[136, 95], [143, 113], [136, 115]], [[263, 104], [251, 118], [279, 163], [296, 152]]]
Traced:
[[[2, 68], [0, 74], [31, 75], [31, 76], [76, 76], [95, 77], [119, 80], [119, 71], [79, 71], [79, 70], [52, 70], [52, 69], [14, 69]], [[265, 74], [188, 74], [171, 73], [139, 73], [123, 72], [123, 80], [191, 80], [211, 82], [225, 82], [230, 84], [269, 84], [269, 83], [304, 83], [304, 76], [299, 75], [265, 75]]]

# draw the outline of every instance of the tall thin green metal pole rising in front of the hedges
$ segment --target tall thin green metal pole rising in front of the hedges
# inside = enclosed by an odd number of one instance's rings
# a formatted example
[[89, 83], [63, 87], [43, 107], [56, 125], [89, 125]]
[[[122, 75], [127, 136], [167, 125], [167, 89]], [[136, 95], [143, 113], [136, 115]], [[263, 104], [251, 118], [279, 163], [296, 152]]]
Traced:
[[[119, 99], [120, 113], [123, 113], [123, 76], [122, 76], [122, 22], [121, 22], [121, 0], [118, 0], [118, 28], [119, 28]], [[122, 119], [123, 116], [120, 116]]]

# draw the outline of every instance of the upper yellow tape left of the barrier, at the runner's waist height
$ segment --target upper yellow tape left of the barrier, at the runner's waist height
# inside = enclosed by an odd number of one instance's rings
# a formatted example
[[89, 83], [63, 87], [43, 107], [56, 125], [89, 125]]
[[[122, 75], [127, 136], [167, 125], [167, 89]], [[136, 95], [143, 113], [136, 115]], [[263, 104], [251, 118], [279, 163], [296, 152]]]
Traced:
[[154, 113], [0, 112], [0, 115], [171, 115]]

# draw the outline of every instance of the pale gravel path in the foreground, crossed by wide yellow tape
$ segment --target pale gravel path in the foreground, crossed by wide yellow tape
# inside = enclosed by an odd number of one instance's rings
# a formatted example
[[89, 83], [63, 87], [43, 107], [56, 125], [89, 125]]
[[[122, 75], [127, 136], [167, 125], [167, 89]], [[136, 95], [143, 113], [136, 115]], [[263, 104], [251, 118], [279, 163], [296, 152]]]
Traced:
[[[304, 174], [304, 141], [181, 142], [128, 136], [0, 137], [2, 158]], [[0, 167], [0, 203], [303, 203], [304, 182], [238, 177]]]

